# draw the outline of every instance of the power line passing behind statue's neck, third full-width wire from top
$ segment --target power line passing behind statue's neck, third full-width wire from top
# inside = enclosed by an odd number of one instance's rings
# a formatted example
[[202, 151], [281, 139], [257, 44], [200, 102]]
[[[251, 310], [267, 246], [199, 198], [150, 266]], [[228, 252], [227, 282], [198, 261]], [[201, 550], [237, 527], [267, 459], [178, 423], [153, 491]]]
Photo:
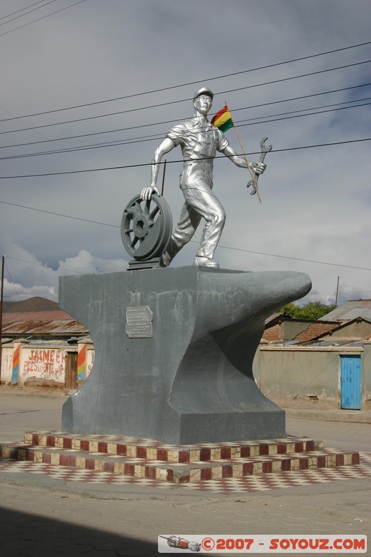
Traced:
[[[240, 110], [249, 110], [249, 109], [255, 109], [255, 108], [260, 108], [260, 107], [266, 107], [266, 106], [269, 106], [271, 104], [280, 104], [280, 103], [283, 103], [283, 102], [291, 102], [291, 101], [294, 101], [294, 100], [308, 99], [310, 97], [318, 97], [319, 95], [329, 95], [331, 93], [340, 93], [342, 91], [349, 91], [350, 89], [368, 87], [370, 85], [371, 85], [371, 83], [365, 83], [365, 84], [354, 85], [354, 86], [350, 86], [350, 87], [342, 87], [340, 89], [333, 89], [331, 91], [322, 91], [321, 93], [312, 93], [310, 95], [301, 95], [299, 97], [290, 97], [288, 99], [281, 99], [281, 100], [276, 100], [276, 101], [271, 101], [271, 102], [262, 102], [261, 104], [252, 104], [249, 107], [233, 108], [233, 113], [235, 113], [237, 111], [240, 111]], [[356, 102], [356, 101], [346, 101], [346, 102]], [[303, 110], [306, 110], [306, 109], [303, 109]], [[80, 134], [80, 135], [72, 135], [72, 136], [67, 136], [67, 137], [58, 137], [58, 138], [55, 138], [55, 139], [44, 139], [42, 141], [29, 141], [28, 143], [15, 143], [13, 145], [0, 146], [0, 149], [8, 149], [8, 148], [11, 148], [11, 147], [24, 147], [24, 146], [29, 146], [29, 145], [38, 145], [39, 143], [53, 143], [53, 142], [56, 142], [56, 141], [65, 141], [67, 139], [80, 139], [81, 137], [90, 137], [90, 136], [93, 136], [93, 135], [111, 134], [111, 133], [116, 133], [116, 132], [127, 132], [128, 130], [138, 130], [139, 128], [142, 128], [142, 127], [157, 126], [157, 125], [162, 125], [162, 124], [172, 124], [172, 123], [178, 122], [178, 121], [179, 121], [179, 118], [177, 118], [176, 120], [164, 120], [162, 122], [141, 124], [141, 125], [129, 126], [129, 127], [121, 127], [121, 128], [117, 128], [116, 130], [104, 130], [104, 132], [93, 132], [93, 133], [90, 133], [90, 134]], [[29, 129], [30, 128], [27, 128], [27, 130], [29, 130]]]

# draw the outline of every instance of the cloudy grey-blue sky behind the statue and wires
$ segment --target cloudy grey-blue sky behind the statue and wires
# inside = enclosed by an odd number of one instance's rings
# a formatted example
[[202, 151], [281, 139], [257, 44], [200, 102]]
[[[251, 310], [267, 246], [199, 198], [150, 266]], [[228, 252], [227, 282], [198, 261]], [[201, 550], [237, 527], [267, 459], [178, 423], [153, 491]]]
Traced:
[[[2, 0], [3, 299], [57, 301], [58, 276], [127, 269], [123, 210], [201, 86], [251, 162], [273, 145], [261, 204], [246, 169], [215, 160], [221, 268], [307, 273], [301, 304], [371, 298], [370, 21], [369, 0]], [[166, 155], [174, 225], [181, 159]]]

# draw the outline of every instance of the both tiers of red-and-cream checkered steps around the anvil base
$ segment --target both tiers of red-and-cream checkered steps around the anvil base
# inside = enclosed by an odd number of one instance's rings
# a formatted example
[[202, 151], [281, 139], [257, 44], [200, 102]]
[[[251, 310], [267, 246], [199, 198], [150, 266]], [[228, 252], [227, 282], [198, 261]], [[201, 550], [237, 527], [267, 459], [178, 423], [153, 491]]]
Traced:
[[27, 432], [23, 444], [0, 444], [0, 457], [172, 483], [359, 464], [358, 453], [324, 449], [307, 438], [173, 446], [61, 432]]

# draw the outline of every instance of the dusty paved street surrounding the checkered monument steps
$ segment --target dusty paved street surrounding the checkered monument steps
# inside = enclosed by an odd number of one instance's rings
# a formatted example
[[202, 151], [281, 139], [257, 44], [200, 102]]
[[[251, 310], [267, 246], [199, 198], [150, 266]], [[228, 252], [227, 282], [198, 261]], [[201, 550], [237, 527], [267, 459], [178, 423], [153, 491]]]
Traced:
[[[66, 398], [1, 389], [0, 440], [59, 429]], [[287, 434], [365, 453], [370, 431], [367, 423], [287, 419]], [[0, 472], [0, 485], [1, 557], [152, 556], [159, 534], [371, 534], [371, 477], [356, 472], [354, 479], [228, 495], [145, 481], [66, 481], [42, 470]]]

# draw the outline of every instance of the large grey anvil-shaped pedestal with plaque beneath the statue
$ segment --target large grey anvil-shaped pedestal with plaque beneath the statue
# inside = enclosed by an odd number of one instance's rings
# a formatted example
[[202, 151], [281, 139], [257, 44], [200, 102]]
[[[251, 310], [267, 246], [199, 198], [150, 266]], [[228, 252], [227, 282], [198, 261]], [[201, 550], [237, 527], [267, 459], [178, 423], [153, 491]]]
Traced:
[[166, 444], [284, 437], [253, 357], [266, 318], [310, 288], [296, 272], [194, 266], [61, 277], [59, 304], [95, 347], [63, 431]]

